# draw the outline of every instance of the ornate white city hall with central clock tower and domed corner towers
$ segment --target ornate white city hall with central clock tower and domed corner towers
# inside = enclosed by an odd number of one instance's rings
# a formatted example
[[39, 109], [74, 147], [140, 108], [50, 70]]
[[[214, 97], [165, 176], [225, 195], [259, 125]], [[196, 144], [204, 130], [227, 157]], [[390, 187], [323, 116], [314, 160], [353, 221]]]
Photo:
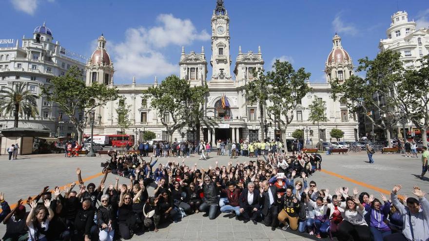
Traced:
[[[207, 118], [215, 119], [218, 126], [214, 131], [207, 129], [201, 130], [201, 137], [213, 142], [216, 139], [231, 138], [234, 140], [254, 140], [261, 138], [259, 128], [259, 110], [256, 104], [250, 105], [245, 99], [244, 86], [248, 81], [253, 80], [252, 69], [264, 66], [261, 48], [258, 47], [257, 52], [248, 51], [243, 53], [241, 47], [238, 48], [238, 55], [234, 66], [234, 77], [231, 75], [231, 48], [230, 48], [230, 19], [228, 12], [222, 6], [217, 6], [211, 17], [212, 26], [212, 55], [210, 64], [213, 68], [213, 75], [207, 79], [207, 59], [205, 56], [204, 47], [200, 53], [191, 51], [185, 53], [184, 48], [179, 60], [179, 76], [190, 81], [191, 86], [203, 85], [207, 82], [209, 94], [206, 98], [205, 111]], [[143, 131], [151, 130], [156, 133], [156, 139], [166, 140], [167, 134], [162, 126], [156, 110], [150, 108], [150, 99], [143, 97], [142, 91], [150, 86], [156, 86], [158, 80], [155, 77], [153, 84], [137, 84], [135, 79], [131, 84], [115, 85], [113, 81], [113, 63], [109, 54], [105, 50], [105, 39], [98, 39], [98, 47], [93, 56], [87, 63], [87, 84], [91, 81], [98, 81], [106, 85], [115, 86], [119, 90], [119, 94], [126, 98], [125, 105], [131, 105], [130, 113], [132, 125], [126, 130], [129, 134], [137, 134], [137, 140], [141, 137]], [[344, 139], [354, 141], [357, 136], [357, 120], [349, 116], [345, 102], [334, 101], [331, 98], [331, 87], [328, 80], [339, 78], [347, 79], [353, 71], [352, 61], [349, 54], [341, 45], [341, 37], [335, 35], [332, 38], [332, 50], [328, 55], [325, 63], [325, 73], [327, 80], [323, 83], [311, 83], [312, 93], [309, 93], [301, 101], [298, 106], [294, 120], [287, 129], [287, 136], [296, 129], [306, 129], [305, 139], [312, 139], [313, 145], [317, 142], [317, 125], [313, 125], [308, 119], [308, 107], [313, 98], [317, 96], [327, 103], [326, 123], [320, 123], [320, 133], [324, 140], [329, 140], [329, 132], [333, 128], [339, 128], [345, 132]], [[103, 53], [103, 54], [101, 54]], [[221, 98], [225, 96], [229, 103], [229, 107], [225, 109], [221, 106]], [[113, 101], [100, 107], [96, 111], [96, 126], [94, 134], [117, 134], [117, 113], [116, 108], [118, 101]], [[168, 122], [169, 116], [163, 116], [164, 121]], [[270, 121], [267, 116], [268, 129], [267, 136], [270, 139], [280, 137], [280, 131], [274, 129], [274, 125], [270, 126]], [[186, 128], [185, 128], [186, 129]], [[173, 134], [173, 140], [181, 140], [181, 132], [186, 133], [184, 139], [192, 140], [193, 133], [191, 130], [180, 130]], [[85, 130], [85, 134], [90, 133], [90, 129]], [[291, 137], [292, 138], [292, 137]]]

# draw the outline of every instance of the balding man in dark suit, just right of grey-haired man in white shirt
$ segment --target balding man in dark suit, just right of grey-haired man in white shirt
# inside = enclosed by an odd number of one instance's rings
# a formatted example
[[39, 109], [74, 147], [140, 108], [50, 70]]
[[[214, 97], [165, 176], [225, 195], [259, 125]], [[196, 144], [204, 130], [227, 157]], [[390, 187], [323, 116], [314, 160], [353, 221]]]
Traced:
[[276, 189], [275, 185], [270, 186], [267, 180], [262, 182], [262, 185], [259, 187], [259, 193], [261, 197], [262, 204], [262, 216], [264, 217], [265, 226], [271, 226], [271, 230], [275, 230], [277, 226], [277, 215], [278, 209], [275, 202], [276, 198]]

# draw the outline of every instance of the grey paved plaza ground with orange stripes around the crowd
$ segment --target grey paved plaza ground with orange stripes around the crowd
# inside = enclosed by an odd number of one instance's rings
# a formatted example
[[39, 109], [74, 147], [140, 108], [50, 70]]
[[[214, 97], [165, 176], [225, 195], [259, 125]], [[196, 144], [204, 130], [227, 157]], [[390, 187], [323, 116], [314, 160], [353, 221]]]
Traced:
[[[227, 165], [230, 159], [227, 156], [216, 156], [207, 161], [198, 161], [195, 154], [191, 158], [185, 158], [188, 166], [207, 168], [215, 167], [215, 161], [219, 165]], [[420, 155], [420, 154], [419, 154]], [[373, 157], [375, 164], [368, 164], [365, 152], [350, 153], [348, 155], [322, 154], [322, 171], [315, 172], [309, 180], [314, 180], [319, 189], [329, 188], [330, 193], [339, 186], [357, 187], [360, 192], [367, 191], [378, 197], [380, 192], [389, 194], [393, 185], [403, 186], [400, 194], [412, 196], [413, 185], [418, 185], [429, 192], [429, 178], [420, 180], [416, 178], [421, 172], [421, 160], [419, 158], [406, 158], [402, 154], [376, 153]], [[108, 156], [102, 157], [75, 157], [64, 158], [63, 154], [28, 155], [19, 156], [19, 160], [8, 161], [7, 156], [0, 156], [0, 192], [5, 193], [5, 199], [9, 204], [16, 203], [20, 198], [38, 194], [43, 186], [53, 189], [56, 185], [69, 185], [77, 182], [76, 168], [82, 169], [82, 178], [85, 183], [98, 183], [101, 180], [100, 162], [106, 161]], [[182, 158], [159, 158], [158, 162], [165, 164], [167, 161], [181, 163]], [[249, 162], [255, 158], [238, 157], [233, 161]], [[109, 174], [106, 184], [114, 183], [116, 176]], [[119, 184], [129, 183], [123, 177]], [[153, 194], [153, 187], [149, 188], [149, 194]], [[181, 222], [172, 223], [160, 228], [159, 232], [146, 232], [135, 236], [132, 240], [144, 240], [151, 238], [157, 240], [310, 240], [308, 236], [299, 236], [295, 232], [285, 232], [281, 229], [272, 231], [262, 223], [254, 225], [252, 222], [244, 224], [235, 219], [224, 217], [220, 214], [215, 220], [203, 217], [201, 213], [187, 216]], [[5, 226], [0, 224], [0, 237], [5, 232]]]

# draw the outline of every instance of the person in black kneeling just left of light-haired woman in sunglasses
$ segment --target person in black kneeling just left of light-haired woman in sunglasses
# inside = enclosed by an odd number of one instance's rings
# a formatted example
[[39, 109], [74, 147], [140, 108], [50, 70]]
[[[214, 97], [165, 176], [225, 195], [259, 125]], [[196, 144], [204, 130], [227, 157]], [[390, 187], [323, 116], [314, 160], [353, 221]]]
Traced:
[[97, 225], [94, 224], [95, 208], [90, 200], [84, 200], [78, 209], [75, 219], [74, 241], [91, 241], [98, 239]]

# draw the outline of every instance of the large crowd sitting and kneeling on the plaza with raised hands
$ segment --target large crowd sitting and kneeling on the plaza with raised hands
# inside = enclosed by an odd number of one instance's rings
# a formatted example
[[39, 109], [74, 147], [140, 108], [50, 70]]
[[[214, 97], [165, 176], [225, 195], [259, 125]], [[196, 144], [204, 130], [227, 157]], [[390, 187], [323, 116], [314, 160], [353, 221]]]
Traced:
[[[401, 185], [380, 199], [346, 186], [330, 192], [309, 180], [321, 170], [318, 154], [268, 151], [249, 162], [208, 168], [171, 160], [156, 166], [152, 158], [113, 152], [99, 185], [83, 183], [78, 168], [78, 184], [53, 191], [46, 186], [27, 207], [19, 200], [12, 210], [0, 193], [3, 240], [128, 240], [198, 212], [340, 241], [429, 239], [429, 203], [421, 188], [413, 187], [417, 198], [398, 198]], [[129, 182], [119, 185], [117, 177], [106, 185], [109, 173]], [[149, 185], [155, 186], [150, 194]]]

